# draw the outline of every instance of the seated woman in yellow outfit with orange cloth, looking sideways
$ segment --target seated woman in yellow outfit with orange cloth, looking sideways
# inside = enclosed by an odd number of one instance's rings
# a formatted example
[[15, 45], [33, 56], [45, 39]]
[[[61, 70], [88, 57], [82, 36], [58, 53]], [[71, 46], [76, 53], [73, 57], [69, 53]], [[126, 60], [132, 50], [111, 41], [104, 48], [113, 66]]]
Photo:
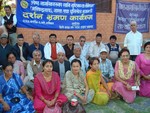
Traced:
[[110, 90], [113, 83], [106, 84], [99, 69], [99, 62], [99, 59], [96, 57], [90, 58], [90, 70], [86, 74], [86, 79], [89, 88], [95, 91], [92, 102], [98, 105], [105, 105], [108, 103], [109, 97], [111, 97]]

